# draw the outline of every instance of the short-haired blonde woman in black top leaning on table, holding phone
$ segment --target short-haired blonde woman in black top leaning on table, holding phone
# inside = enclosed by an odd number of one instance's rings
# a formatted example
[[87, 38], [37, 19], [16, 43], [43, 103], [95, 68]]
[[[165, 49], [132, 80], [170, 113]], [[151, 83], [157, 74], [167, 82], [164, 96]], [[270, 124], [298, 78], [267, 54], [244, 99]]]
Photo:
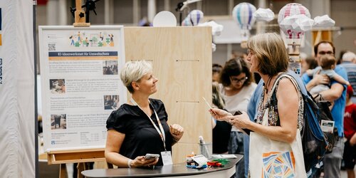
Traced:
[[[177, 124], [169, 125], [162, 101], [149, 98], [157, 92], [158, 81], [151, 63], [129, 61], [122, 68], [120, 78], [132, 98], [112, 111], [106, 121], [106, 161], [117, 167], [161, 166], [162, 157], [171, 154], [172, 145], [182, 138], [184, 129]], [[147, 153], [160, 157], [145, 159]]]

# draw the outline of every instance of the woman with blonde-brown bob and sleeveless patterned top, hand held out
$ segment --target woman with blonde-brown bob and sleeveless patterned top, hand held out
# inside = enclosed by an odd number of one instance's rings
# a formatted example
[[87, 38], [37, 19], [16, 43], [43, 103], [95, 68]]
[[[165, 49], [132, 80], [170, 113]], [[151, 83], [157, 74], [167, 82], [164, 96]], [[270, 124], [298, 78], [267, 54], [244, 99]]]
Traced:
[[[273, 140], [293, 142], [297, 128], [303, 125], [303, 98], [289, 78], [276, 81], [278, 75], [288, 71], [288, 53], [283, 39], [276, 33], [262, 33], [250, 38], [247, 46], [250, 51], [247, 57], [250, 70], [262, 77], [248, 107], [248, 112], [256, 113], [257, 123], [246, 112], [233, 116], [229, 112], [213, 108], [211, 115], [217, 120], [226, 120], [236, 127], [247, 128]], [[298, 83], [298, 79], [295, 80]], [[278, 90], [271, 93], [275, 82], [278, 83]], [[267, 108], [266, 101], [270, 97], [278, 99], [278, 103], [268, 106], [274, 109], [268, 110], [268, 125], [261, 125]]]

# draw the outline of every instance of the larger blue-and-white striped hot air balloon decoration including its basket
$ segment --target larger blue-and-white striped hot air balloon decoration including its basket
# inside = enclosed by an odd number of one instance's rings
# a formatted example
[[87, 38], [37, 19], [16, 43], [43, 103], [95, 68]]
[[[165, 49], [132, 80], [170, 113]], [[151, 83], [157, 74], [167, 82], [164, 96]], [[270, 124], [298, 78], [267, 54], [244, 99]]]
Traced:
[[246, 48], [246, 41], [250, 36], [250, 30], [255, 23], [256, 18], [253, 16], [253, 13], [256, 11], [256, 7], [250, 3], [243, 2], [237, 4], [232, 10], [232, 16], [234, 20], [239, 25], [241, 29], [241, 47]]

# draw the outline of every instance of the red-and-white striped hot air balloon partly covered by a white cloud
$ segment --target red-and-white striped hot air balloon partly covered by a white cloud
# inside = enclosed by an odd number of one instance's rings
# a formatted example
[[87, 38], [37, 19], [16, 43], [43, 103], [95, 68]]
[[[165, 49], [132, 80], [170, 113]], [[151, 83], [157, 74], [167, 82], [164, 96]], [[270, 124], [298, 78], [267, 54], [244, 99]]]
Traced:
[[286, 38], [302, 38], [304, 31], [300, 29], [293, 29], [293, 21], [283, 21], [286, 17], [291, 17], [295, 15], [305, 15], [310, 18], [309, 10], [302, 6], [302, 4], [290, 3], [283, 6], [281, 11], [278, 13], [278, 24], [281, 30], [286, 34]]

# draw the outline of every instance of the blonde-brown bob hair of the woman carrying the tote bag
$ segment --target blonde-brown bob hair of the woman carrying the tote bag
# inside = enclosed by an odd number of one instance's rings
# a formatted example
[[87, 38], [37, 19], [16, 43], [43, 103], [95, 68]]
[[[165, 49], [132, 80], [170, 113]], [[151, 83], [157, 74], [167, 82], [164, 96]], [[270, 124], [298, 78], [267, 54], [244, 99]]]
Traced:
[[247, 48], [258, 58], [258, 71], [274, 76], [288, 69], [288, 53], [283, 39], [277, 33], [261, 33], [251, 37]]

